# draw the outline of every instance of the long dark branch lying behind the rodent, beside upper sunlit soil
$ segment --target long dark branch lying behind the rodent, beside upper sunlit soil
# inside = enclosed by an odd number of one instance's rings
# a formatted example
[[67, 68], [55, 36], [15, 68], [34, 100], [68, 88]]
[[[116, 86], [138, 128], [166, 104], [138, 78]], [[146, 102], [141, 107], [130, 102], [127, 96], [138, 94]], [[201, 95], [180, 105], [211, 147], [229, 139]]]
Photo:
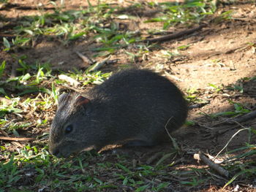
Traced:
[[191, 28], [191, 29], [188, 29], [188, 30], [180, 31], [180, 32], [178, 32], [176, 34], [167, 34], [167, 35], [162, 36], [162, 37], [151, 38], [151, 39], [144, 39], [141, 42], [164, 42], [164, 41], [171, 40], [171, 39], [177, 39], [179, 37], [184, 37], [185, 35], [192, 34], [195, 31], [199, 31], [204, 26], [205, 25], [200, 25], [200, 26], [198, 26], [196, 28]]

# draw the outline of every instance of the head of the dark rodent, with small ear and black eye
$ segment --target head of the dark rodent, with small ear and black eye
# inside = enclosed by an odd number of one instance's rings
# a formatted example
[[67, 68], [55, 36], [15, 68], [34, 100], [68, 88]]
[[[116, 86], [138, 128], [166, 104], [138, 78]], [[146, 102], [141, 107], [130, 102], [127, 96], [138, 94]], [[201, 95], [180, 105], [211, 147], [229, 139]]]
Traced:
[[[49, 149], [57, 157], [67, 157], [91, 145], [89, 110], [86, 97], [63, 93], [59, 96], [58, 110], [50, 128]], [[91, 146], [90, 146], [91, 145]]]

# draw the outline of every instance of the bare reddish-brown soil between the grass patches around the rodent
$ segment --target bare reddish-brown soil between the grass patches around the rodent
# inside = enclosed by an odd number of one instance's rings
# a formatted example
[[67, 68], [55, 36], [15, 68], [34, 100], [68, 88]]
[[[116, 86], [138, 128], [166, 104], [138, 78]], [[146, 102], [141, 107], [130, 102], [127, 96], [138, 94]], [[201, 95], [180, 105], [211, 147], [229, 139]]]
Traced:
[[[47, 2], [13, 0], [10, 3], [15, 4], [15, 7], [3, 9], [0, 13], [15, 23], [15, 20], [24, 15], [40, 14], [37, 9], [39, 3], [45, 5]], [[86, 8], [88, 6], [86, 1], [80, 0], [66, 1], [65, 3], [66, 9], [79, 9], [79, 7]], [[91, 1], [91, 3], [97, 4], [97, 1]], [[112, 1], [112, 3], [116, 4], [117, 1]], [[124, 1], [122, 5], [126, 7], [129, 3]], [[34, 9], [23, 8], [26, 6], [34, 7]], [[53, 5], [48, 4], [45, 7], [48, 8], [48, 12], [53, 11]], [[153, 52], [146, 53], [143, 58], [135, 59], [132, 62], [124, 50], [120, 49], [111, 58], [118, 59], [118, 64], [111, 64], [102, 68], [104, 72], [116, 71], [125, 65], [156, 69], [176, 82], [179, 88], [184, 91], [189, 88], [198, 89], [197, 98], [207, 101], [207, 104], [189, 111], [188, 120], [195, 121], [195, 126], [184, 126], [174, 133], [174, 137], [184, 151], [197, 152], [200, 150], [216, 155], [239, 129], [243, 127], [256, 128], [255, 118], [241, 124], [234, 123], [231, 125], [220, 123], [225, 118], [210, 118], [206, 115], [233, 111], [234, 105], [230, 100], [244, 104], [249, 110], [256, 110], [256, 81], [244, 79], [244, 77], [255, 77], [256, 74], [256, 54], [253, 45], [256, 43], [256, 6], [249, 1], [237, 1], [235, 4], [223, 3], [220, 4], [218, 13], [227, 10], [235, 12], [233, 14], [234, 19], [221, 20], [219, 23], [211, 20], [211, 22], [206, 23], [206, 27], [202, 30], [179, 39], [162, 42], [159, 44], [160, 47], [155, 48]], [[149, 14], [147, 14], [148, 12]], [[124, 23], [127, 30], [136, 29], [142, 34], [146, 34], [148, 29], [162, 28], [162, 23], [143, 23], [149, 18], [148, 15], [152, 16], [150, 13], [151, 9], [146, 9], [144, 12], [131, 12], [131, 14], [139, 15], [138, 20], [120, 20], [119, 22]], [[170, 32], [176, 33], [185, 29], [184, 26], [176, 26], [170, 28]], [[0, 28], [0, 32], [2, 30], [6, 30], [6, 28]], [[174, 52], [176, 47], [181, 45], [189, 45], [189, 47], [186, 50], [179, 50], [180, 55], [178, 57], [166, 58], [162, 56], [163, 51]], [[49, 41], [46, 38], [41, 38], [37, 39], [34, 47], [20, 50], [18, 55], [27, 55], [26, 61], [28, 63], [50, 61], [53, 64], [53, 69], [72, 70], [73, 67], [83, 69], [85, 67], [83, 61], [75, 54], [75, 51], [93, 55], [92, 47], [100, 47], [100, 44], [94, 42], [91, 37], [86, 37], [69, 45], [61, 44], [58, 39]], [[131, 45], [127, 51], [136, 53], [138, 50]], [[100, 59], [97, 58], [97, 60]], [[8, 64], [12, 64], [13, 58], [1, 51], [1, 60], [6, 60]], [[10, 69], [11, 66], [9, 66]], [[240, 85], [244, 88], [244, 93], [227, 89], [216, 92], [209, 86], [209, 83], [223, 88]], [[26, 136], [26, 132], [24, 136]], [[241, 131], [230, 142], [227, 150], [243, 146], [248, 142], [248, 138], [248, 131]], [[252, 141], [255, 142], [253, 139]], [[154, 152], [170, 150], [170, 145], [161, 145], [151, 149], [142, 147], [132, 150], [124, 148], [116, 150], [118, 153], [132, 154], [131, 157], [136, 161], [146, 162]], [[111, 154], [115, 153], [116, 150], [105, 150], [102, 153], [105, 154], [106, 158], [111, 158]], [[113, 158], [112, 161], [116, 161], [116, 159]], [[193, 160], [192, 153], [186, 153], [181, 164], [176, 167], [177, 169], [186, 169], [188, 166], [200, 168], [203, 165]], [[255, 185], [253, 181], [251, 182], [250, 184]], [[221, 187], [221, 185], [213, 184], [202, 186], [197, 191], [222, 191], [220, 190]], [[232, 191], [233, 187], [231, 185], [223, 191]], [[187, 191], [187, 189], [182, 188], [176, 188], [176, 190]], [[255, 191], [255, 189], [244, 187], [242, 191]]]

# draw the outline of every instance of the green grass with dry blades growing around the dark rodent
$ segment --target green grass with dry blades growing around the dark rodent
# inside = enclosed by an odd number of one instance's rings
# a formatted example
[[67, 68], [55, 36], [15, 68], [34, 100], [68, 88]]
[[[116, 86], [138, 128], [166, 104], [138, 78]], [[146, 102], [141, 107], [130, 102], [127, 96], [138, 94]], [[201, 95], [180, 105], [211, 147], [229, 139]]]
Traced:
[[[147, 42], [155, 34], [168, 34], [170, 28], [194, 28], [206, 23], [225, 23], [232, 20], [233, 12], [218, 12], [217, 1], [192, 0], [178, 2], [129, 2], [129, 6], [108, 1], [87, 1], [87, 7], [67, 9], [65, 4], [45, 1], [47, 7], [36, 7], [37, 15], [24, 15], [10, 22], [1, 15], [0, 64], [0, 192], [2, 191], [239, 191], [256, 190], [255, 183], [255, 128], [253, 122], [235, 123], [237, 134], [248, 133], [244, 145], [227, 150], [223, 145], [215, 160], [217, 169], [206, 162], [197, 164], [192, 158], [197, 148], [172, 142], [164, 150], [108, 149], [102, 153], [83, 152], [70, 158], [56, 158], [48, 152], [51, 120], [56, 111], [58, 96], [63, 91], [84, 91], [104, 82], [112, 69], [129, 67], [118, 65], [118, 52], [122, 50], [127, 61], [143, 60], [159, 43]], [[12, 1], [1, 0], [1, 9], [12, 9]], [[17, 4], [16, 4], [17, 6]], [[145, 31], [127, 29], [124, 20], [137, 22], [145, 9], [160, 14], [143, 23], [161, 26]], [[133, 14], [138, 12], [138, 15]], [[129, 14], [131, 13], [131, 14]], [[122, 23], [123, 22], [123, 23]], [[29, 55], [38, 42], [57, 42], [71, 47], [86, 41], [97, 46], [90, 48], [91, 66], [61, 69], [61, 63], [39, 61]], [[149, 41], [149, 40], [148, 40]], [[159, 59], [176, 59], [191, 45], [176, 47], [156, 55]], [[246, 48], [255, 47], [254, 44]], [[76, 55], [76, 53], [74, 53]], [[33, 59], [31, 59], [31, 57]], [[120, 60], [119, 60], [120, 61]], [[212, 61], [219, 64], [219, 61]], [[154, 61], [152, 61], [154, 63]], [[113, 64], [113, 68], [111, 68]], [[116, 67], [118, 65], [118, 67]], [[157, 69], [157, 65], [156, 65]], [[241, 82], [255, 81], [244, 77]], [[230, 86], [208, 85], [210, 93], [200, 89], [184, 89], [189, 105], [207, 104], [202, 92], [208, 95], [243, 94], [238, 83]], [[227, 91], [232, 91], [227, 92]], [[210, 97], [208, 97], [210, 98]], [[254, 110], [242, 102], [229, 100], [232, 110], [202, 114], [206, 119], [234, 120]], [[253, 104], [251, 104], [253, 105]], [[253, 118], [251, 118], [253, 119]], [[196, 126], [197, 120], [187, 120], [187, 126]], [[229, 140], [230, 139], [230, 140]], [[121, 149], [122, 151], [122, 149]], [[128, 151], [128, 152], [127, 152]], [[208, 152], [211, 153], [211, 152]], [[145, 155], [146, 154], [146, 155]], [[207, 158], [210, 158], [207, 156]], [[219, 171], [219, 169], [221, 169]]]

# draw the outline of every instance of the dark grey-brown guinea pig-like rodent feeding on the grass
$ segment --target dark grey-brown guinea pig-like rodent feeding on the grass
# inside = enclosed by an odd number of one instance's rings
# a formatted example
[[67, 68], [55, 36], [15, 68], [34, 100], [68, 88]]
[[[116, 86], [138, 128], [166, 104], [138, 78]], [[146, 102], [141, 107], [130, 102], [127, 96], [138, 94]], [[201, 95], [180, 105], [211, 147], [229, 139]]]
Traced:
[[145, 69], [124, 70], [83, 96], [59, 97], [50, 153], [67, 157], [110, 144], [156, 145], [167, 136], [165, 127], [174, 131], [186, 118], [187, 102], [173, 82]]

